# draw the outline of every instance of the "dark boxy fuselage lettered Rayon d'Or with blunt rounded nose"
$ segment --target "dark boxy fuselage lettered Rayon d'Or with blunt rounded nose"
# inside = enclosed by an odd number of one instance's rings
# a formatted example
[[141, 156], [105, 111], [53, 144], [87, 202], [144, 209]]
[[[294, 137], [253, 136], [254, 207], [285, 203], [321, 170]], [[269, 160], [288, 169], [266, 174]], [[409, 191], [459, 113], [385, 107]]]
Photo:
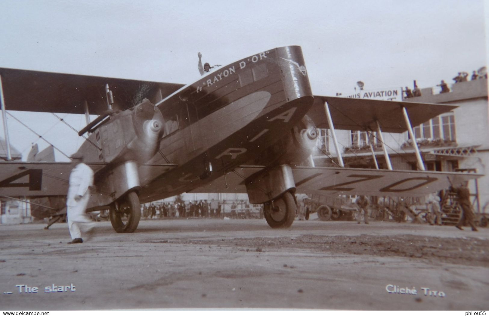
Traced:
[[178, 167], [160, 175], [141, 167], [141, 202], [188, 192], [258, 157], [312, 101], [299, 46], [261, 52], [183, 87], [157, 103], [166, 127], [178, 128], [167, 129], [160, 141], [164, 157], [150, 160]]

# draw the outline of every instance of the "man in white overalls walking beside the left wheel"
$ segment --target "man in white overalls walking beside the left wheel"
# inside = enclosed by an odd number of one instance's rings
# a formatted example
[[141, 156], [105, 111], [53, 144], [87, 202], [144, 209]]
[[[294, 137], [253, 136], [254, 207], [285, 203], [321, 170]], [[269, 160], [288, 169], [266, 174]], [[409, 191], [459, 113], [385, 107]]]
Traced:
[[68, 228], [72, 240], [68, 244], [83, 243], [81, 228], [88, 231], [93, 221], [85, 213], [89, 203], [89, 186], [93, 185], [93, 170], [83, 163], [83, 154], [75, 153], [71, 157], [74, 166], [69, 175], [69, 188], [66, 201]]

